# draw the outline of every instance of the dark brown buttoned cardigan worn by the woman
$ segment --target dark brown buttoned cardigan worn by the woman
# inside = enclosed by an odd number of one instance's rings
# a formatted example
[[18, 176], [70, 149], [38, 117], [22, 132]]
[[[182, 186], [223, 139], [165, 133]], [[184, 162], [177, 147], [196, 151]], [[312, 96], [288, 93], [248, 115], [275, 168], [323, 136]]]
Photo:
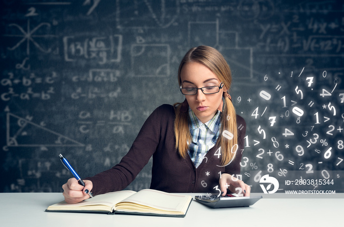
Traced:
[[[153, 156], [150, 188], [171, 193], [215, 193], [219, 185], [219, 172], [240, 174], [240, 161], [244, 149], [246, 123], [237, 115], [238, 145], [234, 160], [221, 166], [221, 156], [214, 155], [214, 146], [196, 169], [189, 157], [183, 159], [175, 149], [174, 107], [158, 107], [144, 122], [129, 152], [112, 169], [86, 178], [93, 183], [94, 195], [120, 191], [126, 188]], [[219, 187], [220, 189], [220, 187]]]

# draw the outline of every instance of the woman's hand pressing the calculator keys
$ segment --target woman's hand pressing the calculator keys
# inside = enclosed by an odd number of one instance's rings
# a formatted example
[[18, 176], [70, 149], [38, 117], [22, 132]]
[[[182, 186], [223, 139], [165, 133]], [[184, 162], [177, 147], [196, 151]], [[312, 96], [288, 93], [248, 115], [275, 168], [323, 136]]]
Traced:
[[239, 196], [250, 196], [251, 187], [245, 184], [244, 181], [239, 180], [238, 178], [228, 173], [221, 174], [219, 183], [221, 192], [223, 192], [221, 196], [226, 195], [227, 189], [229, 189], [233, 193], [238, 194]]

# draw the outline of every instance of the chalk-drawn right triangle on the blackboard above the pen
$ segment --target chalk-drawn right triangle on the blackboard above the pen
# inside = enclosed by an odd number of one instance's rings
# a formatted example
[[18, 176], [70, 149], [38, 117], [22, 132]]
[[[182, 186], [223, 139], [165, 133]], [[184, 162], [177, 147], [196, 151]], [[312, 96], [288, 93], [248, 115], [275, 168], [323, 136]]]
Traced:
[[8, 147], [85, 146], [28, 119], [7, 112], [6, 144]]

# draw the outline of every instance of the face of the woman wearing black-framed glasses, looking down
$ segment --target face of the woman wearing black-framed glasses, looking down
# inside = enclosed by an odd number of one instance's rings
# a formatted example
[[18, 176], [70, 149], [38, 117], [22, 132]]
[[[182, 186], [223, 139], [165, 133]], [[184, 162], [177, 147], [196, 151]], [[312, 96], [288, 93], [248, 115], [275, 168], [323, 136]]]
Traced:
[[[218, 86], [221, 81], [205, 65], [199, 62], [185, 63], [180, 71], [181, 87]], [[195, 95], [185, 95], [191, 110], [201, 120], [202, 123], [209, 121], [216, 114], [222, 102], [222, 94], [227, 91], [223, 87], [218, 93], [204, 94], [200, 89]]]

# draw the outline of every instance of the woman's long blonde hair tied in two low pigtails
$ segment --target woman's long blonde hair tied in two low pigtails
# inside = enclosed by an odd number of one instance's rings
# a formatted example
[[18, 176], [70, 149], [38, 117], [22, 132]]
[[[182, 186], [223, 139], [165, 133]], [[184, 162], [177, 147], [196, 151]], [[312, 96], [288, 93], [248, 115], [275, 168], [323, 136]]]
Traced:
[[[230, 68], [225, 58], [216, 49], [208, 46], [191, 48], [185, 54], [179, 65], [179, 86], [181, 85], [180, 72], [184, 64], [187, 62], [199, 62], [207, 66], [229, 90], [232, 79]], [[222, 165], [227, 165], [235, 156], [235, 151], [237, 150], [235, 145], [238, 146], [238, 136], [234, 106], [226, 96], [224, 100], [223, 113], [221, 115], [220, 139], [217, 140], [217, 145], [221, 146], [221, 163]], [[176, 149], [178, 149], [180, 156], [186, 158], [189, 150], [188, 142], [191, 142], [191, 134], [188, 125], [188, 112], [180, 112], [180, 108], [182, 106], [181, 103], [175, 103], [173, 106], [175, 107], [176, 115], [174, 121], [175, 146]], [[231, 140], [228, 139], [228, 136], [226, 137], [222, 135], [225, 130], [232, 133], [233, 138]]]

